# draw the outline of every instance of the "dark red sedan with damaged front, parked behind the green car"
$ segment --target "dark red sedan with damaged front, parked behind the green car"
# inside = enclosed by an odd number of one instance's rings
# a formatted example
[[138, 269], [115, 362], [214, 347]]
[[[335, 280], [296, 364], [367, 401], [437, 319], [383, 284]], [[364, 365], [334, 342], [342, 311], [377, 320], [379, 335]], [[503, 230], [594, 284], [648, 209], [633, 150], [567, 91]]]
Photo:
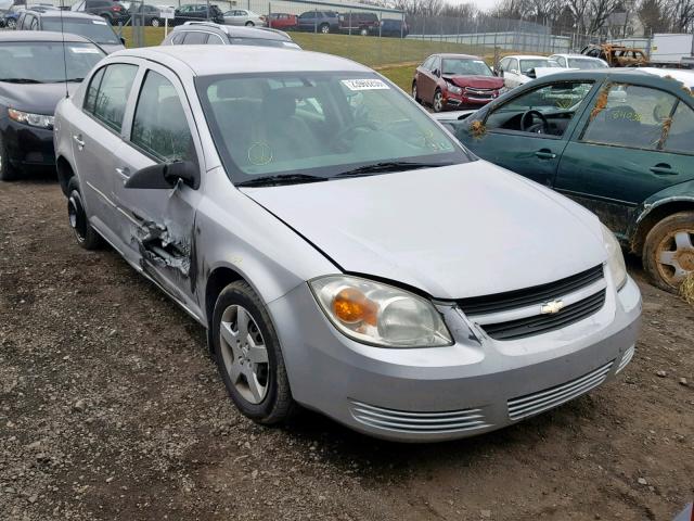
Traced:
[[434, 112], [441, 112], [486, 105], [499, 96], [502, 87], [503, 78], [494, 76], [481, 58], [432, 54], [416, 67], [412, 98], [432, 105]]

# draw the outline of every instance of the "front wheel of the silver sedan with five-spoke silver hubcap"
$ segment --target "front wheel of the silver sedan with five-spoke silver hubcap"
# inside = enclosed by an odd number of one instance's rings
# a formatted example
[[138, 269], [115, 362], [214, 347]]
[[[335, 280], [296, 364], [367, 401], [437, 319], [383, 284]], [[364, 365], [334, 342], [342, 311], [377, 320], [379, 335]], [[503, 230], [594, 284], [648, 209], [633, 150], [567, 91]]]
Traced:
[[211, 328], [217, 367], [239, 410], [264, 425], [286, 421], [296, 404], [280, 341], [250, 285], [236, 281], [222, 290]]

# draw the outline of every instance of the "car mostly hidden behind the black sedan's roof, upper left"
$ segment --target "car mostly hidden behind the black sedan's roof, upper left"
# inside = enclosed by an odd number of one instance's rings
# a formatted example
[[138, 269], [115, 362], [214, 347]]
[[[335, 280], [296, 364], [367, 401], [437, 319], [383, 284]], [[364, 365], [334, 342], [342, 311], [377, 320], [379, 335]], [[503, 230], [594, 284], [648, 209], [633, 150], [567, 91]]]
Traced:
[[125, 40], [114, 33], [106, 21], [93, 14], [31, 9], [20, 15], [17, 29], [54, 30], [83, 36], [108, 54], [125, 49]]

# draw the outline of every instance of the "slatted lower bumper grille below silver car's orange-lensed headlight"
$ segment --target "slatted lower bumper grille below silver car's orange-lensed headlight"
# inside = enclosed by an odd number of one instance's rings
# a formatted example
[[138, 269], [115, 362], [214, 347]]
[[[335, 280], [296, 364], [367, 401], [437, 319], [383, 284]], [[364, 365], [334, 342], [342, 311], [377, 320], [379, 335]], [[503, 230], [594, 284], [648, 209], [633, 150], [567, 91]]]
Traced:
[[412, 412], [351, 401], [351, 416], [364, 425], [416, 434], [441, 434], [491, 427], [481, 409]]

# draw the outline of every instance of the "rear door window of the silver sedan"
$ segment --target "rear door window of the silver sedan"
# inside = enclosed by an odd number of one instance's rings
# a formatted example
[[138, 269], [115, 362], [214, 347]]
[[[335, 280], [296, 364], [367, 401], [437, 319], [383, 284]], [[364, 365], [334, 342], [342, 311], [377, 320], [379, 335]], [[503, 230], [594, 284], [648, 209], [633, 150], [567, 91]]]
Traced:
[[94, 117], [117, 132], [123, 126], [126, 102], [137, 72], [137, 65], [125, 63], [108, 65], [94, 100], [92, 110]]

